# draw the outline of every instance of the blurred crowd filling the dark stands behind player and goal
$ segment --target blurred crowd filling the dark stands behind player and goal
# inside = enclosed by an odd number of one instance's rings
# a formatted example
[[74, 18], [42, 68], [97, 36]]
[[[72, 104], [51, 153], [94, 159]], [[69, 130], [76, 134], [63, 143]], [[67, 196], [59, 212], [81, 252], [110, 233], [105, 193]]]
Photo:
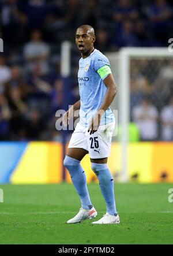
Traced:
[[[61, 140], [55, 130], [55, 112], [66, 101], [60, 76], [61, 43], [74, 43], [78, 26], [89, 24], [95, 28], [95, 47], [102, 52], [127, 46], [164, 47], [172, 37], [172, 7], [172, 2], [166, 0], [0, 0], [0, 140]], [[80, 55], [75, 46], [72, 53], [66, 104], [78, 100], [76, 75]], [[146, 65], [142, 65], [140, 69], [134, 63], [131, 73], [131, 118], [139, 124], [144, 118], [140, 107], [151, 106], [155, 101], [151, 120], [160, 122], [159, 127], [164, 123], [172, 129], [168, 120], [172, 118], [168, 118], [172, 113], [168, 110], [172, 106], [172, 100], [168, 102], [172, 89], [165, 86], [163, 90], [160, 77], [164, 79], [168, 72], [162, 67], [172, 73], [173, 64], [161, 65], [160, 74], [153, 74], [155, 80], [145, 74]], [[145, 84], [142, 90], [137, 88], [141, 84]], [[147, 102], [144, 94], [150, 96], [146, 97]], [[157, 134], [148, 139], [172, 139], [168, 131], [163, 135], [161, 128], [156, 130]], [[141, 135], [141, 139], [146, 137]]]

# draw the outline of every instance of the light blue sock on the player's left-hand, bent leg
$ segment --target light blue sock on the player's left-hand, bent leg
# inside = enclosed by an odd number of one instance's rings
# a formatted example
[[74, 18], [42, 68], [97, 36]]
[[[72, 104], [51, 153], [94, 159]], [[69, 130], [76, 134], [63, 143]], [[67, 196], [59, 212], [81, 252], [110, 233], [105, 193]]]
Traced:
[[86, 175], [80, 165], [80, 161], [66, 155], [63, 165], [70, 173], [73, 185], [80, 196], [82, 208], [91, 209], [92, 203], [89, 198], [88, 188], [86, 187]]

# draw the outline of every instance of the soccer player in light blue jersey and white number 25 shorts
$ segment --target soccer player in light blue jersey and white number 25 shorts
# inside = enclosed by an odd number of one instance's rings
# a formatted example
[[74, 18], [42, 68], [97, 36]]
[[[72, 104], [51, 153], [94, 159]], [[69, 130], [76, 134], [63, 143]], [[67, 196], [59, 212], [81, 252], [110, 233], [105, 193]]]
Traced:
[[81, 159], [89, 153], [91, 168], [95, 172], [106, 202], [106, 214], [92, 224], [119, 224], [114, 198], [114, 180], [107, 166], [115, 118], [110, 104], [116, 94], [114, 78], [107, 57], [93, 44], [95, 31], [82, 25], [76, 31], [76, 45], [81, 53], [78, 70], [80, 100], [63, 115], [63, 124], [69, 123], [74, 110], [80, 109], [80, 121], [72, 134], [63, 164], [70, 173], [72, 183], [81, 200], [81, 208], [67, 223], [82, 222], [97, 216], [89, 198], [85, 172]]

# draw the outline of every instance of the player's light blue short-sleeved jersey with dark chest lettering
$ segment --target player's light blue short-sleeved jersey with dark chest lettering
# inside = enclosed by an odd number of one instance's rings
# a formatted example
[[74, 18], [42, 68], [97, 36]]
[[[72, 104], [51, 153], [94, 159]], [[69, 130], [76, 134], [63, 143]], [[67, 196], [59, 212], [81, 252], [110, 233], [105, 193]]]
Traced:
[[[108, 68], [103, 72], [103, 68]], [[88, 127], [89, 122], [99, 110], [107, 91], [103, 80], [111, 73], [108, 58], [99, 50], [94, 50], [87, 58], [80, 58], [78, 70], [78, 86], [80, 91], [80, 124]], [[101, 72], [99, 72], [101, 71]], [[104, 75], [105, 73], [105, 75]], [[100, 75], [99, 75], [100, 74]], [[115, 121], [114, 115], [108, 107], [100, 120], [100, 125]]]

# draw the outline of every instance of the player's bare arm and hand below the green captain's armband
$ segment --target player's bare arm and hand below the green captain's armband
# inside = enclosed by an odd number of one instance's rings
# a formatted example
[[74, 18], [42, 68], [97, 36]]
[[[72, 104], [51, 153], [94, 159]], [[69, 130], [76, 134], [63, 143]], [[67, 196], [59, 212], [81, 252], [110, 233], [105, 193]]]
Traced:
[[101, 116], [111, 105], [113, 99], [115, 98], [117, 89], [114, 77], [112, 73], [108, 74], [105, 79], [103, 79], [105, 86], [107, 87], [106, 95], [104, 96], [103, 103], [100, 106], [100, 109], [97, 111], [97, 114], [92, 118], [91, 123], [88, 128], [90, 134], [95, 133], [99, 128]]

